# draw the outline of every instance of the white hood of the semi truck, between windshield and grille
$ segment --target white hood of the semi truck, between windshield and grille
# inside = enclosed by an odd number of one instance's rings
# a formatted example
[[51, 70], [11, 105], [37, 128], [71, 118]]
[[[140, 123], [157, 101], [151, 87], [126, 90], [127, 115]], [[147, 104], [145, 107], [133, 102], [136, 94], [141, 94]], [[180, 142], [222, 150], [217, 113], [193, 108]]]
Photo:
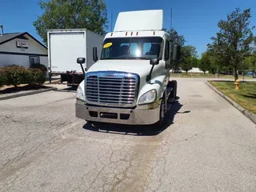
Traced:
[[151, 67], [149, 60], [99, 60], [98, 62], [95, 62], [87, 72], [112, 70], [134, 73], [141, 77], [145, 77], [150, 73]]

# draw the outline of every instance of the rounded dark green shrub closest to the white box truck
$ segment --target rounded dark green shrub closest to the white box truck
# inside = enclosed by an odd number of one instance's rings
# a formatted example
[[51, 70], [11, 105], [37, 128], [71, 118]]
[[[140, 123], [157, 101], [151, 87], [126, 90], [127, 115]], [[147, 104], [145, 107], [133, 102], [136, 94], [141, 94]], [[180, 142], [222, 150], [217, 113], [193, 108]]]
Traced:
[[27, 82], [31, 86], [42, 85], [44, 82], [46, 82], [46, 73], [44, 71], [37, 68], [30, 68], [27, 70], [27, 72]]

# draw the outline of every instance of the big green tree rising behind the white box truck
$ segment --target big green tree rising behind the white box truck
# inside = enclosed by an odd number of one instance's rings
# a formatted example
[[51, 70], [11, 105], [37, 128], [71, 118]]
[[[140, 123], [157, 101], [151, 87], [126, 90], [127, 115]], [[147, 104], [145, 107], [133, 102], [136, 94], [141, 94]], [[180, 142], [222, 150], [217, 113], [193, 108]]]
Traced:
[[44, 13], [33, 22], [47, 45], [47, 31], [52, 29], [82, 29], [105, 34], [106, 4], [103, 0], [50, 0], [38, 2]]

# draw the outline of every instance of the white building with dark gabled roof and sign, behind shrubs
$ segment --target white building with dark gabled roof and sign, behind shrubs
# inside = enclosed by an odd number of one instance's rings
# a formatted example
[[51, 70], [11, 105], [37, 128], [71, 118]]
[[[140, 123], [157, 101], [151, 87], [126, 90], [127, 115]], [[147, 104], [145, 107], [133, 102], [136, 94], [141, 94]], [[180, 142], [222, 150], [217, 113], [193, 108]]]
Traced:
[[47, 47], [29, 33], [0, 34], [0, 67], [18, 65], [29, 68], [43, 64], [48, 69]]

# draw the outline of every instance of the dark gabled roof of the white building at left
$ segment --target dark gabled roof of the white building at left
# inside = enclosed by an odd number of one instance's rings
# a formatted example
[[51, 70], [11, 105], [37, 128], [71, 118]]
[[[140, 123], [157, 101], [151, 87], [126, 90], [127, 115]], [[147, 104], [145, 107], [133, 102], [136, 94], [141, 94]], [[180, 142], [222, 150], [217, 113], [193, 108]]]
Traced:
[[0, 34], [0, 45], [3, 44], [3, 43], [6, 43], [6, 42], [10, 42], [14, 38], [22, 38], [22, 39], [26, 39], [27, 40], [27, 38], [24, 37], [25, 34], [30, 36], [30, 38], [33, 38], [34, 41], [38, 42], [41, 46], [43, 46], [44, 48], [47, 49], [47, 47], [45, 45], [43, 45], [42, 42], [39, 42], [36, 38], [34, 38], [31, 34], [29, 34], [27, 32]]

